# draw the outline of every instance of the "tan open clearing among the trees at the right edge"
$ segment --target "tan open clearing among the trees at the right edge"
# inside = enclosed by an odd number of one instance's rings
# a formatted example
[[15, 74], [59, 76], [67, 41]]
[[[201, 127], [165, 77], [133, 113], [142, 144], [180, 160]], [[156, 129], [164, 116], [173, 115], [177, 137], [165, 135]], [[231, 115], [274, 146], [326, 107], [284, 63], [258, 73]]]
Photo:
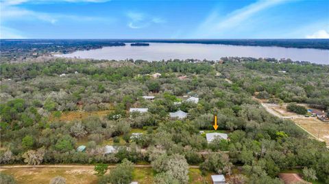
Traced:
[[305, 117], [299, 114], [295, 114], [287, 111], [287, 105], [272, 105], [268, 103], [261, 103], [265, 109], [279, 118], [287, 118], [293, 120], [297, 126], [301, 127], [316, 138], [319, 141], [326, 142], [326, 145], [329, 146], [329, 123], [322, 122], [321, 120], [315, 117]]

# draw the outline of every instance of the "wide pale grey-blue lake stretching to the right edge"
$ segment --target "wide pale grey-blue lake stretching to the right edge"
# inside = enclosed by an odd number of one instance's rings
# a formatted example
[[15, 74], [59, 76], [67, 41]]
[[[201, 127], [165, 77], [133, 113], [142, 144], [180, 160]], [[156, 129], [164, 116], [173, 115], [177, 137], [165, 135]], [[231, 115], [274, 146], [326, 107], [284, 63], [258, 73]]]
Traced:
[[253, 47], [223, 44], [182, 44], [150, 43], [149, 47], [103, 47], [89, 51], [75, 51], [60, 57], [80, 57], [95, 60], [169, 60], [199, 59], [219, 60], [221, 57], [271, 57], [290, 58], [293, 61], [307, 61], [317, 64], [329, 64], [329, 50], [295, 49], [283, 47]]

